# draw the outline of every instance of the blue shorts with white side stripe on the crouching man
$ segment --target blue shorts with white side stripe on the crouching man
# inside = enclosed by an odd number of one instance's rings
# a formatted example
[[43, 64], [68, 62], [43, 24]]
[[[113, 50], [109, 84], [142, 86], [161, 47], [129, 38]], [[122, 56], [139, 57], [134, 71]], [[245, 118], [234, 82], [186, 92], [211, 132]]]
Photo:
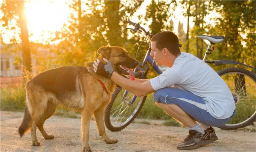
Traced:
[[184, 91], [177, 88], [163, 88], [155, 91], [154, 101], [161, 102], [163, 104], [176, 104], [181, 107], [187, 114], [189, 114], [195, 121], [202, 124], [220, 127], [235, 115], [235, 110], [229, 118], [216, 119], [209, 112], [200, 107], [205, 104], [204, 100], [191, 92]]

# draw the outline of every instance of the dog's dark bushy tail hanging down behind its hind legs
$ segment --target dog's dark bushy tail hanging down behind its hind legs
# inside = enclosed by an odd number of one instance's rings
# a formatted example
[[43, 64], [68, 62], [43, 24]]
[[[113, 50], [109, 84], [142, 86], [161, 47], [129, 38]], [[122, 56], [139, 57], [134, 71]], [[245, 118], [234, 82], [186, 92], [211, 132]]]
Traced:
[[24, 135], [24, 133], [26, 133], [26, 131], [29, 130], [29, 128], [31, 127], [31, 122], [32, 122], [31, 115], [29, 113], [28, 107], [26, 106], [23, 121], [22, 121], [20, 127], [18, 128], [20, 138]]

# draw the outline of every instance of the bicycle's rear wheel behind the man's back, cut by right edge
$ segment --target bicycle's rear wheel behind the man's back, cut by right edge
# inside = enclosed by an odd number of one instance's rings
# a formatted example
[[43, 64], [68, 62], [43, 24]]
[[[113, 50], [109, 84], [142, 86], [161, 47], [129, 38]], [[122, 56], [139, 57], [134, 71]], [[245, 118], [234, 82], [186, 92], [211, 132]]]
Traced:
[[[246, 70], [246, 69], [242, 69], [242, 68], [235, 68], [235, 67], [232, 67], [232, 68], [227, 68], [227, 69], [223, 69], [223, 70], [220, 70], [219, 72], [217, 72], [218, 74], [219, 74], [219, 76], [222, 76], [222, 77], [224, 77], [225, 75], [228, 75], [228, 74], [236, 74], [236, 75], [238, 75], [239, 74], [239, 76], [238, 77], [240, 77], [240, 75], [242, 74], [243, 75], [243, 79], [244, 79], [244, 76], [247, 76], [248, 77], [248, 79], [250, 78], [251, 80], [253, 80], [253, 84], [254, 84], [254, 86], [255, 86], [255, 82], [256, 82], [256, 76], [254, 75], [254, 73], [253, 72], [250, 72], [250, 71], [248, 71], [248, 70]], [[243, 79], [242, 79], [242, 81], [243, 81]], [[230, 80], [229, 80], [230, 81]], [[244, 81], [245, 81], [245, 79], [244, 79]], [[250, 81], [250, 80], [248, 80], [248, 81]], [[235, 81], [234, 81], [235, 82]], [[226, 82], [227, 83], [227, 82]], [[237, 83], [238, 83], [238, 80], [237, 80], [237, 82], [236, 82], [236, 85], [235, 85], [235, 89], [232, 89], [231, 91], [232, 91], [232, 94], [233, 94], [233, 96], [235, 95], [235, 90], [236, 90], [236, 86], [238, 86], [237, 85]], [[240, 82], [240, 85], [241, 85], [241, 83], [242, 82]], [[229, 84], [227, 84], [228, 86], [229, 86]], [[238, 86], [238, 88], [240, 88], [240, 85]], [[230, 86], [229, 86], [230, 87]], [[244, 83], [244, 86], [242, 86], [242, 87], [244, 87], [245, 88], [245, 83]], [[251, 87], [251, 86], [250, 86]], [[250, 88], [249, 87], [249, 88]], [[254, 88], [254, 87], [253, 87]], [[244, 91], [243, 91], [244, 92]], [[241, 94], [241, 93], [243, 93], [243, 92], [239, 92], [239, 94]], [[238, 96], [236, 96], [235, 98], [235, 100], [239, 100], [239, 94], [237, 94]], [[250, 98], [253, 98], [253, 97], [250, 97]], [[244, 99], [244, 98], [242, 98], [242, 99]], [[247, 100], [246, 98], [244, 99], [244, 100]], [[254, 99], [248, 99], [248, 100], [254, 100]], [[239, 102], [240, 102], [240, 104], [239, 104]], [[235, 119], [236, 117], [239, 117], [238, 115], [239, 115], [239, 113], [240, 113], [240, 115], [242, 114], [241, 113], [241, 111], [238, 111], [239, 109], [237, 109], [238, 108], [238, 106], [239, 105], [242, 105], [243, 104], [243, 102], [241, 102], [241, 101], [239, 101], [238, 103], [236, 103], [236, 113], [235, 113], [235, 116], [233, 116], [233, 118], [231, 118], [230, 119], [230, 121], [228, 122], [228, 124], [226, 124], [226, 125], [224, 125], [224, 126], [221, 126], [221, 127], [219, 127], [219, 128], [221, 128], [221, 129], [224, 129], [224, 130], [234, 130], [234, 129], [237, 129], [237, 128], [242, 128], [242, 127], [246, 127], [246, 126], [248, 126], [248, 125], [250, 125], [251, 123], [253, 123], [253, 121], [256, 121], [256, 111], [255, 111], [255, 109], [254, 109], [254, 113], [248, 118], [248, 119], [245, 119], [244, 121], [242, 121], [242, 119], [241, 119], [241, 121], [242, 122], [238, 122], [238, 123], [236, 123], [236, 122], [234, 122], [234, 124], [229, 124], [231, 121], [232, 121], [232, 119]], [[254, 101], [252, 101], [252, 102], [254, 102]], [[247, 105], [249, 104], [249, 106], [255, 106], [255, 103], [254, 104], [251, 104], [251, 103], [247, 103]], [[249, 107], [248, 106], [248, 107]], [[255, 107], [254, 107], [255, 108]], [[253, 112], [253, 110], [252, 110], [252, 112]], [[250, 115], [250, 114], [249, 114]], [[246, 115], [245, 115], [246, 116]], [[236, 120], [233, 120], [233, 121], [236, 121]]]

